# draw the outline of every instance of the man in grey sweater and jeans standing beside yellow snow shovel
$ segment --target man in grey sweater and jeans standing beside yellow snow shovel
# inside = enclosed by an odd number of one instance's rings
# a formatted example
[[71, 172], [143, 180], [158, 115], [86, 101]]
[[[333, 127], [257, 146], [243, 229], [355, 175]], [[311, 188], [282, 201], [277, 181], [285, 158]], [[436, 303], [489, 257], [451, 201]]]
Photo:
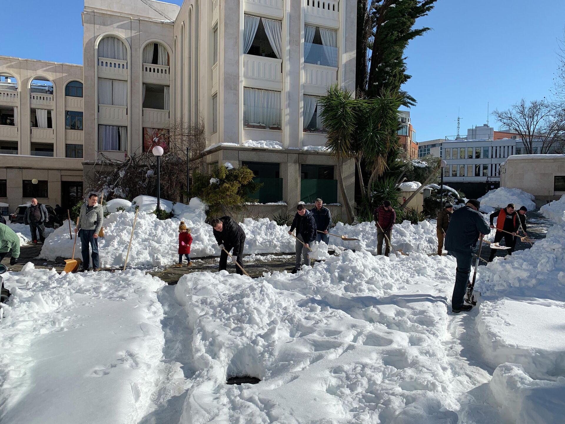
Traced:
[[79, 232], [82, 246], [82, 271], [88, 271], [90, 266], [90, 248], [92, 248], [92, 269], [98, 271], [98, 233], [102, 228], [104, 212], [102, 205], [98, 204], [98, 194], [90, 193], [88, 202], [80, 208], [79, 225], [75, 232]]

